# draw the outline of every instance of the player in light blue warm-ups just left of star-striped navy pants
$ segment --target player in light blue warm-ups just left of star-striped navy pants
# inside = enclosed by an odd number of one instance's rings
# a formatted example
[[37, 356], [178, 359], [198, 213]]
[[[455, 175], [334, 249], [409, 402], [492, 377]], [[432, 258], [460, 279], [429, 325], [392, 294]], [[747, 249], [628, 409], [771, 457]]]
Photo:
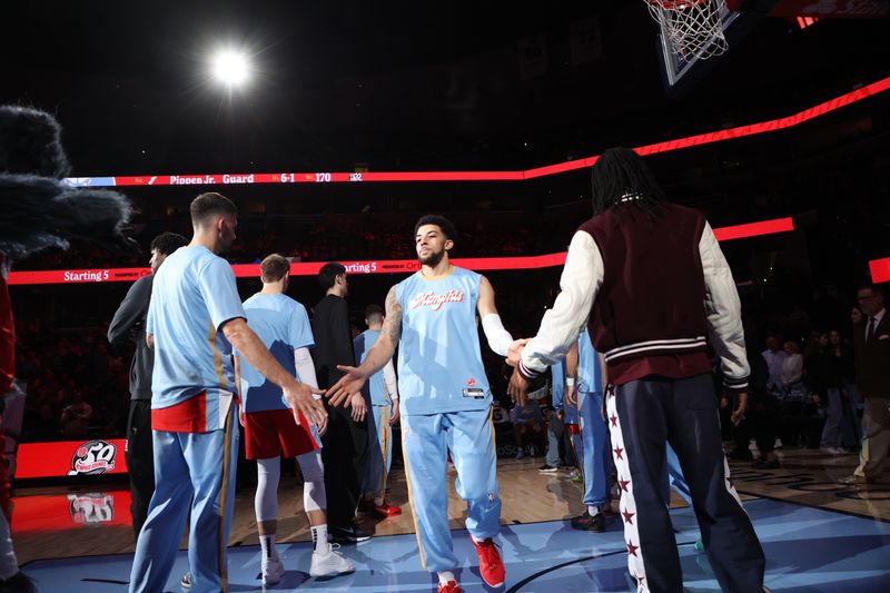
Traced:
[[[591, 344], [585, 328], [565, 357], [566, 375], [575, 377], [577, 409], [581, 423], [581, 467], [584, 476], [584, 513], [572, 520], [572, 527], [592, 532], [605, 531], [604, 510], [611, 500], [609, 475], [612, 470], [612, 451], [609, 432], [602, 416], [603, 365], [600, 354]], [[571, 399], [575, 399], [571, 397]]]

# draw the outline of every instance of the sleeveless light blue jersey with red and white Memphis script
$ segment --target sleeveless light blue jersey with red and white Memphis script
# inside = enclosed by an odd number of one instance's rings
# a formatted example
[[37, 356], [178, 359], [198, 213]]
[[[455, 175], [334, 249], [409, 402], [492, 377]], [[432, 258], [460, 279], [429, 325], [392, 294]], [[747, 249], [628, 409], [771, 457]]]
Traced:
[[475, 271], [452, 267], [444, 278], [429, 280], [417, 271], [396, 285], [402, 305], [398, 392], [404, 414], [492, 405], [475, 324], [481, 279]]

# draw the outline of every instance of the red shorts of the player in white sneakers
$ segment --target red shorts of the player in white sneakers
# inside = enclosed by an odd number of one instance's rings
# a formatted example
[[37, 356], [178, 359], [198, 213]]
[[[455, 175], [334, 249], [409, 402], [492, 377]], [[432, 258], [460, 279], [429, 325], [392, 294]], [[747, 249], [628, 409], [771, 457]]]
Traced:
[[300, 424], [294, 421], [294, 412], [290, 409], [248, 412], [244, 416], [248, 459], [268, 459], [279, 455], [296, 457], [320, 448], [303, 414], [299, 415]]

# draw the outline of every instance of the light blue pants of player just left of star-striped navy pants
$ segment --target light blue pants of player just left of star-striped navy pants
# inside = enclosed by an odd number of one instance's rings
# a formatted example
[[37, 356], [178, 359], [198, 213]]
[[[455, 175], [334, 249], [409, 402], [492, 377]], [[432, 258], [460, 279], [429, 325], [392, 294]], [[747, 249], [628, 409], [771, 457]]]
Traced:
[[612, 448], [609, 433], [601, 415], [603, 392], [578, 392], [581, 439], [583, 443], [581, 467], [584, 473], [585, 505], [603, 507], [611, 502], [609, 475], [612, 473]]

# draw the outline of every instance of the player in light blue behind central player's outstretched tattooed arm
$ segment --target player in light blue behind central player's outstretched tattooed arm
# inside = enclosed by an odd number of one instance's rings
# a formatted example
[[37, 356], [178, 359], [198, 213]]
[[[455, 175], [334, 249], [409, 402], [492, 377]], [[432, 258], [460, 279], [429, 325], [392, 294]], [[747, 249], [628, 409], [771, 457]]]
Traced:
[[[365, 308], [368, 328], [353, 340], [355, 360], [359, 365], [380, 337], [383, 319], [384, 312], [379, 305]], [[368, 462], [362, 478], [358, 510], [384, 518], [400, 515], [402, 508], [386, 502], [386, 476], [393, 465], [393, 425], [398, 422], [398, 387], [392, 360], [368, 379], [364, 394], [372, 414], [368, 416]]]

